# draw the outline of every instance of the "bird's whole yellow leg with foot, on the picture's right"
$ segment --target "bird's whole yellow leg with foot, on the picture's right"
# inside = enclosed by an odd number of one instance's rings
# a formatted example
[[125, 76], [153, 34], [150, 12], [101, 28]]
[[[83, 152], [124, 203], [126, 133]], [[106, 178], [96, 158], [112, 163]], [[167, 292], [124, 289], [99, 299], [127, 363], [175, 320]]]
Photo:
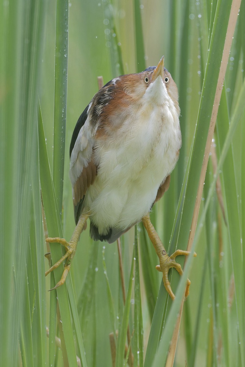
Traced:
[[[172, 288], [170, 286], [170, 282], [169, 282], [167, 274], [168, 274], [170, 268], [175, 268], [177, 270], [177, 272], [180, 275], [182, 275], [183, 270], [181, 268], [181, 265], [178, 264], [175, 261], [175, 258], [176, 258], [176, 256], [179, 256], [179, 255], [187, 256], [187, 255], [190, 254], [190, 251], [177, 250], [173, 253], [173, 255], [168, 256], [165, 248], [163, 247], [162, 241], [160, 240], [158, 234], [156, 233], [156, 230], [155, 230], [154, 226], [151, 223], [151, 219], [150, 219], [149, 214], [145, 215], [142, 218], [142, 223], [143, 223], [145, 229], [147, 230], [148, 236], [149, 236], [149, 238], [150, 238], [150, 240], [151, 240], [151, 242], [152, 242], [152, 244], [153, 244], [153, 246], [156, 250], [156, 254], [159, 257], [160, 265], [157, 265], [156, 269], [159, 272], [162, 272], [162, 280], [163, 280], [163, 284], [166, 288], [166, 291], [169, 293], [170, 297], [172, 299], [174, 299], [175, 295], [173, 294], [173, 291], [172, 291]], [[195, 252], [194, 252], [194, 256], [197, 256], [197, 254]], [[190, 284], [191, 284], [190, 280], [187, 279], [187, 286], [185, 288], [185, 297], [187, 297], [188, 294], [189, 294]]]

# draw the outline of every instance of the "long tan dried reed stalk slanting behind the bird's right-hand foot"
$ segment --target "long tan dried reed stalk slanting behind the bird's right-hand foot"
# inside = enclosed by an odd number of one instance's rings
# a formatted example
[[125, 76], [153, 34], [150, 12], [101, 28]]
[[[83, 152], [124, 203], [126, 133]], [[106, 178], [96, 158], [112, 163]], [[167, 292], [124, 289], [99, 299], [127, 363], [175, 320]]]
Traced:
[[[228, 63], [229, 52], [230, 52], [231, 43], [232, 43], [232, 40], [233, 40], [233, 34], [234, 34], [234, 31], [235, 31], [235, 25], [236, 25], [236, 22], [237, 22], [237, 16], [238, 16], [238, 11], [239, 11], [240, 5], [241, 5], [241, 0], [233, 0], [233, 2], [231, 4], [230, 17], [229, 17], [229, 21], [228, 21], [226, 39], [225, 39], [225, 43], [224, 43], [223, 56], [222, 56], [222, 61], [221, 61], [221, 65], [220, 65], [219, 77], [218, 77], [218, 81], [217, 81], [215, 99], [214, 99], [214, 104], [213, 104], [212, 116], [211, 116], [211, 119], [210, 119], [208, 138], [207, 138], [207, 141], [206, 141], [205, 154], [204, 154], [203, 163], [202, 163], [202, 170], [201, 170], [199, 186], [198, 186], [198, 191], [197, 191], [197, 199], [196, 199], [194, 213], [193, 213], [193, 217], [192, 217], [191, 231], [190, 231], [190, 236], [189, 236], [189, 240], [188, 240], [187, 251], [191, 251], [191, 247], [192, 247], [192, 244], [193, 244], [193, 241], [194, 241], [195, 230], [196, 230], [196, 227], [197, 227], [198, 213], [199, 213], [199, 208], [200, 208], [200, 203], [201, 203], [201, 198], [202, 198], [202, 190], [203, 190], [206, 170], [207, 170], [207, 166], [208, 166], [209, 152], [210, 152], [210, 148], [211, 148], [213, 133], [214, 133], [214, 130], [215, 130], [215, 123], [216, 123], [217, 113], [218, 113], [218, 109], [219, 109], [221, 91], [222, 91], [223, 84], [224, 84], [224, 77], [226, 75], [226, 67], [227, 67], [227, 63]], [[177, 323], [176, 323], [176, 326], [174, 328], [172, 341], [170, 343], [170, 350], [169, 350], [169, 353], [168, 353], [168, 356], [167, 356], [166, 367], [172, 367], [173, 363], [174, 363], [174, 357], [175, 357], [176, 346], [177, 346], [177, 339], [178, 339], [179, 329], [180, 329], [181, 315], [182, 315], [182, 312], [183, 312], [183, 304], [184, 304], [184, 297], [181, 301], [181, 306], [180, 306], [180, 311], [179, 311], [179, 314], [178, 314]]]

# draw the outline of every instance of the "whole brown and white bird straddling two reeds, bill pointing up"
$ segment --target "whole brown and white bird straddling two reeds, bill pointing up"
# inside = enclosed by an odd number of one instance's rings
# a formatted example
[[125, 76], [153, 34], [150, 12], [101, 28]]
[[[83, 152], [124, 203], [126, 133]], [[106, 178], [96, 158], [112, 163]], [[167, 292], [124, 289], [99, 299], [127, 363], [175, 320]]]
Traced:
[[[109, 243], [142, 221], [159, 258], [156, 269], [175, 298], [168, 272], [175, 268], [182, 275], [175, 258], [190, 252], [176, 250], [168, 256], [149, 213], [169, 188], [170, 173], [179, 159], [178, 99], [163, 56], [157, 66], [109, 81], [80, 115], [71, 139], [69, 169], [76, 228], [69, 242], [60, 237], [46, 239], [66, 248], [65, 255], [46, 272], [66, 260], [53, 289], [65, 282], [87, 219], [91, 238]], [[185, 297], [189, 288], [188, 279]]]

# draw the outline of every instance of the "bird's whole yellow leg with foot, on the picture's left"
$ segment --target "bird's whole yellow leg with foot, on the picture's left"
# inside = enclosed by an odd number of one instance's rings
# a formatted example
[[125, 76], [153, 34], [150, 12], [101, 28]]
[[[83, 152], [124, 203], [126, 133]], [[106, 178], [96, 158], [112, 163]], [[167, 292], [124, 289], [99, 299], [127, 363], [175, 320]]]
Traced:
[[46, 272], [45, 272], [45, 276], [48, 275], [51, 271], [53, 271], [54, 269], [58, 268], [58, 266], [65, 260], [66, 260], [66, 264], [65, 264], [65, 268], [64, 268], [64, 272], [62, 274], [61, 280], [58, 281], [58, 283], [56, 284], [56, 286], [53, 289], [56, 289], [60, 286], [62, 286], [62, 284], [65, 283], [65, 278], [67, 276], [67, 274], [69, 273], [69, 270], [71, 268], [71, 262], [72, 259], [75, 255], [76, 252], [76, 247], [78, 244], [78, 240], [80, 237], [80, 234], [82, 233], [83, 227], [87, 221], [87, 219], [89, 218], [89, 214], [82, 214], [80, 215], [80, 218], [78, 220], [78, 224], [76, 225], [76, 228], [73, 232], [73, 235], [71, 237], [71, 240], [69, 242], [67, 242], [64, 238], [60, 238], [60, 237], [47, 237], [46, 238], [46, 242], [49, 243], [60, 243], [61, 245], [65, 246], [66, 249], [66, 253], [64, 256], [62, 256], [62, 258], [57, 261], [53, 266], [51, 266], [51, 268], [49, 268]]

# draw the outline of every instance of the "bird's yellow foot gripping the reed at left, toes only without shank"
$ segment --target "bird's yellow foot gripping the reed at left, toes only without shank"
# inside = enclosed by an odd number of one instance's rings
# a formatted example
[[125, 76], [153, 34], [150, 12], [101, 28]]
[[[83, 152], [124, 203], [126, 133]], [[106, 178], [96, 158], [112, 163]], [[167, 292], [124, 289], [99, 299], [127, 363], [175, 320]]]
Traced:
[[[62, 286], [62, 284], [65, 283], [65, 278], [66, 278], [67, 274], [70, 271], [71, 262], [72, 262], [72, 259], [73, 259], [74, 255], [75, 255], [75, 252], [76, 252], [77, 243], [75, 241], [67, 242], [64, 238], [60, 238], [60, 237], [47, 237], [46, 238], [46, 242], [49, 242], [49, 243], [60, 243], [61, 245], [65, 246], [65, 248], [66, 248], [65, 255], [62, 256], [62, 258], [59, 261], [57, 261], [53, 266], [51, 266], [51, 268], [49, 268], [45, 272], [45, 276], [46, 276], [51, 271], [53, 271], [54, 269], [57, 269], [58, 266], [60, 266], [60, 264], [65, 259], [67, 259], [66, 260], [66, 264], [65, 264], [65, 268], [64, 268], [64, 272], [63, 272], [62, 277], [61, 277], [61, 280], [58, 281], [58, 283], [55, 285], [54, 288], [50, 289], [50, 291], [52, 291], [53, 289], [56, 289], [56, 288]], [[49, 254], [47, 254], [47, 255], [49, 255]]]

